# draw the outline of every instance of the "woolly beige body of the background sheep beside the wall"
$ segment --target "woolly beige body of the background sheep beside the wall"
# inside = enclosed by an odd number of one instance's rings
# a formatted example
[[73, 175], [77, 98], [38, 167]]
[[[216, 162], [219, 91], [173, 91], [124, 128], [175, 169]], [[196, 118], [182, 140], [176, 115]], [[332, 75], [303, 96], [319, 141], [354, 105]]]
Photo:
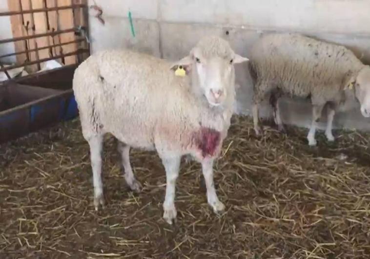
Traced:
[[251, 51], [259, 83], [274, 84], [294, 96], [339, 90], [353, 66], [361, 62], [343, 46], [298, 34], [270, 34], [259, 39]]

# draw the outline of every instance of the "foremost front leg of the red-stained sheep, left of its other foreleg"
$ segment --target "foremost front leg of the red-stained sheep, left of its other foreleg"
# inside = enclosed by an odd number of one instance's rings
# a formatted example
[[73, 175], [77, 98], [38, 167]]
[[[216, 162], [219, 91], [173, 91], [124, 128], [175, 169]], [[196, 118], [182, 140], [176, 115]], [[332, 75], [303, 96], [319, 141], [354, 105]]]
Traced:
[[163, 203], [163, 218], [168, 224], [176, 219], [175, 207], [176, 179], [179, 176], [181, 157], [163, 158], [162, 162], [166, 171], [166, 194]]

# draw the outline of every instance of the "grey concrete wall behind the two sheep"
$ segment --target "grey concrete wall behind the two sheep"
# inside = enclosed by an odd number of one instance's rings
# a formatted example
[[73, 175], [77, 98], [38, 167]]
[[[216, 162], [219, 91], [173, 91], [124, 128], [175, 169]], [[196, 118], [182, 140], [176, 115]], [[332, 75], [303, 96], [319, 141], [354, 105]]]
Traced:
[[[90, 10], [93, 52], [128, 47], [176, 60], [200, 37], [215, 34], [248, 57], [250, 46], [261, 34], [289, 31], [344, 44], [370, 63], [370, 0], [90, 0], [89, 4], [94, 2], [103, 8], [105, 25]], [[129, 10], [136, 37], [131, 35]], [[238, 65], [236, 74], [241, 86], [236, 112], [249, 115], [253, 92], [246, 65]], [[309, 103], [284, 99], [281, 105], [286, 123], [309, 125]], [[339, 114], [335, 126], [370, 129], [370, 121], [353, 105], [357, 110]], [[268, 105], [261, 115], [271, 115]]]

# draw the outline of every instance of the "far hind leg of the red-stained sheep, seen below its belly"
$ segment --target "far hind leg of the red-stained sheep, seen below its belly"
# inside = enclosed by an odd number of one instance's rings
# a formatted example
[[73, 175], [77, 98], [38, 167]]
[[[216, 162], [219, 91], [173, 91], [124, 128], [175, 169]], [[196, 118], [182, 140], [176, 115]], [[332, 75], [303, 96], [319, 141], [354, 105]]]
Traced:
[[130, 146], [126, 145], [121, 141], [118, 141], [117, 149], [121, 155], [121, 163], [123, 167], [122, 169], [124, 170], [123, 177], [126, 180], [127, 185], [131, 188], [131, 190], [139, 193], [142, 186], [140, 182], [137, 179], [135, 179], [134, 173], [132, 172], [130, 164]]

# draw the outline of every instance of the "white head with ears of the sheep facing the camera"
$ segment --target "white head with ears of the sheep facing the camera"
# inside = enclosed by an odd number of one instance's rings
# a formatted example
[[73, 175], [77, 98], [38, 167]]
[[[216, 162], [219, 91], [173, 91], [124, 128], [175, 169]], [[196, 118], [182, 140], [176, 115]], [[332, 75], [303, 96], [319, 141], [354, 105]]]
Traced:
[[226, 40], [206, 37], [171, 68], [183, 66], [191, 75], [193, 90], [204, 95], [211, 106], [219, 106], [228, 95], [234, 95], [234, 64], [247, 60], [235, 54]]

